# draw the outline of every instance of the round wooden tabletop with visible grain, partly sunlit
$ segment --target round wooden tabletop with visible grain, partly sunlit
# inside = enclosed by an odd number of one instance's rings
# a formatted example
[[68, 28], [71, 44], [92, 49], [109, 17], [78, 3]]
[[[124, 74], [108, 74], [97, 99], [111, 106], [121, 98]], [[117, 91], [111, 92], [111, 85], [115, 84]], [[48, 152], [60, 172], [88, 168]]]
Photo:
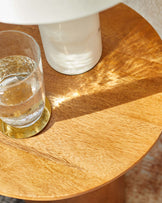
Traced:
[[42, 50], [52, 117], [38, 136], [0, 134], [0, 194], [58, 200], [117, 179], [161, 133], [162, 43], [136, 12], [101, 13], [103, 54], [91, 71], [67, 76], [46, 62], [37, 26], [0, 24], [32, 35]]

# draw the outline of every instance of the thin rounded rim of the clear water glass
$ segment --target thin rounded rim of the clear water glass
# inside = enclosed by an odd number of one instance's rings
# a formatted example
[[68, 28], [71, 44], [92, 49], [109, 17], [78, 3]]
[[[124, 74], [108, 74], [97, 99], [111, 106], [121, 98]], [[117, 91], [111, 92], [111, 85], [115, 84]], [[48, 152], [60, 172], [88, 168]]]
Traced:
[[[0, 92], [4, 89], [7, 89], [7, 88], [10, 88], [10, 87], [14, 87], [14, 86], [17, 86], [21, 83], [23, 83], [24, 81], [28, 80], [30, 77], [32, 77], [32, 75], [34, 74], [34, 72], [37, 70], [37, 68], [39, 68], [39, 64], [40, 64], [40, 61], [41, 61], [41, 51], [40, 51], [40, 47], [39, 47], [39, 44], [37, 43], [37, 41], [34, 39], [34, 37], [32, 37], [31, 35], [25, 33], [25, 32], [22, 32], [22, 31], [19, 31], [19, 30], [2, 30], [0, 31], [0, 35], [3, 34], [3, 33], [19, 33], [21, 35], [24, 35], [26, 37], [28, 37], [29, 39], [31, 39], [34, 44], [36, 45], [37, 47], [37, 50], [38, 50], [38, 54], [37, 54], [37, 61], [34, 60], [34, 62], [36, 63], [36, 66], [34, 67], [34, 69], [31, 71], [31, 73], [26, 77], [24, 78], [23, 80], [21, 81], [18, 81], [14, 84], [11, 84], [11, 85], [7, 85], [7, 86], [0, 86]], [[10, 56], [15, 56], [15, 55], [10, 55]], [[24, 56], [24, 55], [22, 55]], [[7, 57], [7, 56], [6, 56]], [[29, 57], [29, 56], [27, 56]], [[30, 57], [29, 57], [30, 58]], [[2, 58], [0, 58], [1, 60]]]

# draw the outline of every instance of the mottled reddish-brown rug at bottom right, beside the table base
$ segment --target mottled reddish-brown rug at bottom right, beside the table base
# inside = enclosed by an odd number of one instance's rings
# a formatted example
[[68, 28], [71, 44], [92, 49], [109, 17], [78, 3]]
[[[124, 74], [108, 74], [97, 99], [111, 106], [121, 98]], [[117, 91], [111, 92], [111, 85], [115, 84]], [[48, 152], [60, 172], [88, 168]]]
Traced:
[[126, 203], [162, 203], [162, 136], [126, 174]]

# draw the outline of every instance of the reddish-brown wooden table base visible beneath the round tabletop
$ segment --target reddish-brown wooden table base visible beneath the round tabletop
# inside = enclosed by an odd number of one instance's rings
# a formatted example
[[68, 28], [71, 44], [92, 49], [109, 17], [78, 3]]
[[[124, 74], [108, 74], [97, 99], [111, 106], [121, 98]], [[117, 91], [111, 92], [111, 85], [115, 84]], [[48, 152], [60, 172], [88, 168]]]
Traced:
[[[124, 203], [125, 201], [124, 176], [104, 187], [87, 194], [65, 199], [52, 201], [53, 203]], [[26, 201], [26, 203], [52, 203], [51, 201]]]

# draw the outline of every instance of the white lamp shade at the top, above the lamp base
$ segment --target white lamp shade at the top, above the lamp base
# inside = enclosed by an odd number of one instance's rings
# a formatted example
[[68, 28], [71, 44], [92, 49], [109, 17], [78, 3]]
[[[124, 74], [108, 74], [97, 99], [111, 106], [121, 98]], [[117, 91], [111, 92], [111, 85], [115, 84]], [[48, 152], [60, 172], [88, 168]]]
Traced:
[[120, 0], [0, 0], [0, 22], [58, 23], [98, 13]]

